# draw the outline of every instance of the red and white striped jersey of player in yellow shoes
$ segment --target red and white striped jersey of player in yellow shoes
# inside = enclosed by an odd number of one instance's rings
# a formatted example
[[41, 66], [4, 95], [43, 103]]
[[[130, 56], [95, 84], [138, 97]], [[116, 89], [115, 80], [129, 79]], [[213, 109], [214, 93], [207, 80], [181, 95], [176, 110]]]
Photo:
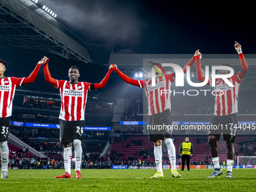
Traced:
[[148, 115], [163, 113], [168, 108], [171, 110], [171, 92], [164, 90], [171, 90], [175, 75], [172, 73], [166, 76], [157, 78], [154, 87], [149, 79], [139, 80], [140, 87], [145, 89], [148, 97]]

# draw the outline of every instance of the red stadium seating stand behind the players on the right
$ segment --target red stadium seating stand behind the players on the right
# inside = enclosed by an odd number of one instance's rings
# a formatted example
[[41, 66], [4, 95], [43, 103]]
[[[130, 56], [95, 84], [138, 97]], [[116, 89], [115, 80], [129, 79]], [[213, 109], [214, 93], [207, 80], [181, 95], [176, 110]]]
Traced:
[[[180, 162], [179, 145], [187, 136], [175, 136], [177, 163]], [[212, 164], [211, 152], [208, 144], [208, 136], [188, 136], [194, 145], [194, 154], [191, 164]], [[235, 142], [236, 155], [254, 155], [256, 147], [255, 139], [251, 136], [237, 136]], [[226, 144], [223, 139], [218, 142], [220, 162], [227, 161]], [[110, 160], [127, 162], [129, 160], [142, 160], [154, 162], [154, 144], [148, 136], [123, 135], [115, 139], [110, 150]], [[169, 163], [165, 149], [163, 148], [163, 160]], [[108, 160], [108, 157], [105, 157]]]

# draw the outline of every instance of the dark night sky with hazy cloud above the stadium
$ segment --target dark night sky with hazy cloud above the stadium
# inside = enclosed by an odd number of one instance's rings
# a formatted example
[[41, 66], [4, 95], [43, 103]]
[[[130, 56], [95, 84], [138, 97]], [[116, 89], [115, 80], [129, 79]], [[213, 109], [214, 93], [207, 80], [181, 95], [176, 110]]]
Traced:
[[[84, 41], [136, 53], [245, 53], [254, 47], [254, 5], [246, 2], [41, 0]], [[250, 8], [251, 7], [251, 8]]]

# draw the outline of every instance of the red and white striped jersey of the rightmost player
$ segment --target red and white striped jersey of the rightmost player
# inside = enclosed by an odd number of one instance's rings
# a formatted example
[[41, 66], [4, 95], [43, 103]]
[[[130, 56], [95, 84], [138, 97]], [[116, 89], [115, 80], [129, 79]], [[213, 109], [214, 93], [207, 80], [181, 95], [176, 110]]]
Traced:
[[[245, 75], [239, 74], [233, 75], [228, 80], [234, 87], [230, 87], [221, 78], [216, 78], [215, 83], [215, 112], [217, 116], [225, 116], [238, 112], [238, 93], [240, 84], [245, 78]], [[209, 86], [212, 84], [212, 79], [209, 79]]]

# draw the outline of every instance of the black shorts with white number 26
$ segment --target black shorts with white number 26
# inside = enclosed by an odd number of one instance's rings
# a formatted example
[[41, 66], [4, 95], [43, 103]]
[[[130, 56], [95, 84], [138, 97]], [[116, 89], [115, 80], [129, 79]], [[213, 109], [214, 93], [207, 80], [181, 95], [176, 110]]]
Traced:
[[59, 139], [63, 145], [73, 142], [74, 139], [82, 140], [84, 120], [59, 120], [59, 129]]

